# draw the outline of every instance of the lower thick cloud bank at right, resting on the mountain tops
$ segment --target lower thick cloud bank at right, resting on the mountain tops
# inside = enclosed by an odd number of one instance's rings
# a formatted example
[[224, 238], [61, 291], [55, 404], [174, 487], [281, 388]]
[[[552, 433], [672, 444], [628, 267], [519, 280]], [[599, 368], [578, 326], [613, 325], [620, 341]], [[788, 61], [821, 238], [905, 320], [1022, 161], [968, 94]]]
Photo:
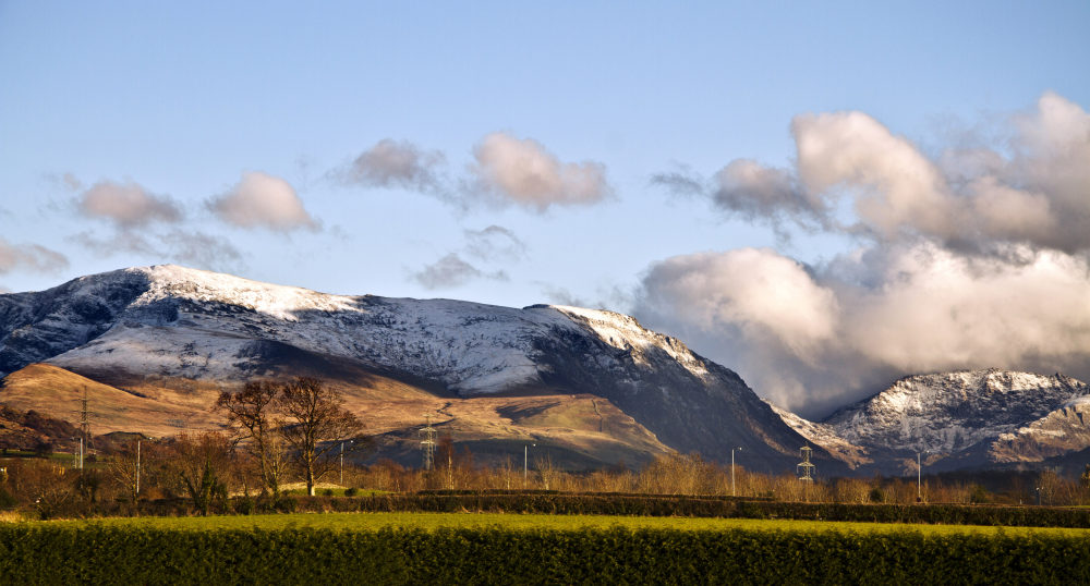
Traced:
[[1090, 375], [1090, 266], [1024, 252], [1012, 263], [918, 243], [820, 267], [771, 249], [679, 256], [647, 271], [635, 313], [811, 416], [907, 374]]

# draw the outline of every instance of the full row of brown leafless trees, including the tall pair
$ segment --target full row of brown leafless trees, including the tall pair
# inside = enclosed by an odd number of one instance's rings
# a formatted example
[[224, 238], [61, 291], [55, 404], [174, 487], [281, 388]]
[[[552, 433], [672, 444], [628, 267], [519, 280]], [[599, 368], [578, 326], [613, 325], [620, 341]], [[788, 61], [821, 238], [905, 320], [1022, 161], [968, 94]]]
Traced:
[[[279, 499], [284, 487], [302, 480], [306, 493], [341, 465], [342, 453], [365, 450], [359, 418], [344, 407], [336, 390], [320, 381], [253, 381], [238, 392], [222, 392], [214, 410], [226, 418], [227, 432], [180, 435], [140, 442], [73, 469], [68, 460], [20, 460], [5, 463], [0, 478], [0, 509], [34, 508], [50, 516], [78, 511], [81, 503], [101, 500], [187, 499], [193, 510], [228, 510], [233, 496]], [[348, 450], [343, 450], [347, 447]], [[343, 468], [343, 485], [363, 490], [412, 492], [425, 489], [543, 489], [571, 492], [651, 495], [731, 495], [783, 501], [911, 503], [918, 490], [924, 501], [946, 503], [1090, 504], [1090, 465], [1080, 479], [1044, 471], [1003, 492], [971, 480], [840, 478], [803, 484], [795, 476], [772, 476], [707, 462], [695, 454], [668, 454], [633, 471], [623, 466], [586, 473], [559, 469], [547, 456], [529, 471], [521, 462], [479, 465], [468, 448], [440, 438], [435, 468], [407, 468], [389, 460]]]

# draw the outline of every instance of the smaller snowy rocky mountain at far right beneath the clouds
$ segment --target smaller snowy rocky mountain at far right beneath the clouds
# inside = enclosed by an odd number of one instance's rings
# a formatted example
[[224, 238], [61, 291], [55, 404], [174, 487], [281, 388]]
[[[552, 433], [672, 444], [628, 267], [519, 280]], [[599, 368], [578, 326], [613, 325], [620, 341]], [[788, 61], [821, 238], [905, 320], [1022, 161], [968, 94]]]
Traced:
[[784, 420], [853, 466], [938, 468], [1040, 462], [1090, 447], [1090, 387], [1063, 375], [988, 369], [906, 377], [820, 423]]

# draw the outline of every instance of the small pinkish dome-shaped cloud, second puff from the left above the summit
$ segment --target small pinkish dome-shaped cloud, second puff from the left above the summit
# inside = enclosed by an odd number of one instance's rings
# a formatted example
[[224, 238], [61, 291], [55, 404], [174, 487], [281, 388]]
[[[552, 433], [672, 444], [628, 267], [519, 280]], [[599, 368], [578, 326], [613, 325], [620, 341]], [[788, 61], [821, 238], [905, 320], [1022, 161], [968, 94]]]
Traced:
[[208, 207], [221, 220], [241, 228], [283, 232], [318, 228], [290, 183], [257, 171], [243, 173], [238, 184]]

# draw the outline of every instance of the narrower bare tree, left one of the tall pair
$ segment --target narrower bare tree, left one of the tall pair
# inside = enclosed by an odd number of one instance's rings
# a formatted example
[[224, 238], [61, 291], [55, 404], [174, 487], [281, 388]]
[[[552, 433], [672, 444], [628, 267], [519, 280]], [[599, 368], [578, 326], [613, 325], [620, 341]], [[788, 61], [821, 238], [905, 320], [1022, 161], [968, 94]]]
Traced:
[[274, 381], [254, 381], [237, 393], [223, 391], [216, 400], [216, 407], [227, 412], [234, 441], [257, 461], [262, 485], [274, 497], [280, 492], [288, 471], [283, 439], [272, 413], [282, 389], [282, 384]]

